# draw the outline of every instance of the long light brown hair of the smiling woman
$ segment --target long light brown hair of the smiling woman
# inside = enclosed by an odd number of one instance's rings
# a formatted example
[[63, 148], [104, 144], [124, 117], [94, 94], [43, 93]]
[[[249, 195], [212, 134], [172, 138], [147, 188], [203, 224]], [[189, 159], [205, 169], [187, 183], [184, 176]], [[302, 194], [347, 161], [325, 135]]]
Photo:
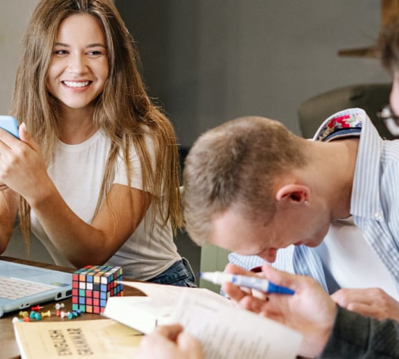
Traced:
[[[96, 211], [110, 189], [118, 153], [123, 152], [127, 173], [130, 173], [129, 153], [131, 146], [134, 146], [141, 159], [143, 191], [152, 193], [153, 214], [163, 216], [161, 218], [165, 223], [170, 219], [176, 231], [181, 227], [181, 208], [175, 131], [145, 92], [132, 37], [112, 1], [39, 2], [22, 44], [11, 114], [19, 122], [26, 123], [47, 163], [51, 161], [60, 135], [60, 119], [57, 117], [60, 103], [46, 89], [46, 73], [61, 21], [78, 13], [96, 17], [103, 26], [109, 61], [109, 77], [103, 93], [96, 99], [93, 119], [112, 140]], [[147, 134], [154, 143], [154, 161], [151, 161], [145, 146]], [[22, 232], [28, 240], [30, 207], [24, 198], [20, 200], [19, 211]]]

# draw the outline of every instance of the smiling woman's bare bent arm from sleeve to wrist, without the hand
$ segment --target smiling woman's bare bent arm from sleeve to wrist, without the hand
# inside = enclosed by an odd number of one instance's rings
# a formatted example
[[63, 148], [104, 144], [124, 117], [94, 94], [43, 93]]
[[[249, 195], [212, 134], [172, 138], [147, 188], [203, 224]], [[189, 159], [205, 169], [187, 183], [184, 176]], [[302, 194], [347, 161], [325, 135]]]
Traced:
[[97, 216], [86, 223], [76, 216], [55, 187], [31, 204], [51, 242], [77, 268], [105, 263], [136, 230], [150, 205], [150, 195], [113, 184]]

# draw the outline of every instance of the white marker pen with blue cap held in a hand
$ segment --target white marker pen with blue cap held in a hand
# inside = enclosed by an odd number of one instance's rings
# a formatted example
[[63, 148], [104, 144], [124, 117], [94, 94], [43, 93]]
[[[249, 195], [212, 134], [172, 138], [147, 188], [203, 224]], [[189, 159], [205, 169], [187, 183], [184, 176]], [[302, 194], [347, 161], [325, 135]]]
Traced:
[[249, 277], [225, 272], [201, 272], [199, 277], [214, 284], [233, 283], [236, 286], [256, 289], [265, 293], [294, 294], [294, 290], [276, 286], [276, 284], [261, 277]]

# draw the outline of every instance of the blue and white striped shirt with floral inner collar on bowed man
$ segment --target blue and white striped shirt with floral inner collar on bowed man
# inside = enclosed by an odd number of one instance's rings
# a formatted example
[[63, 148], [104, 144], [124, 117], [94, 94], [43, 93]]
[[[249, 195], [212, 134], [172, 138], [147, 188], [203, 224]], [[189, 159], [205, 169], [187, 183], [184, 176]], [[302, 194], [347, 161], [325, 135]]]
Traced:
[[[337, 121], [338, 120], [338, 121]], [[330, 141], [337, 137], [358, 136], [359, 147], [353, 180], [351, 214], [364, 239], [378, 254], [399, 283], [399, 140], [380, 138], [364, 110], [349, 109], [330, 116], [314, 135], [314, 141]], [[229, 254], [229, 262], [251, 269], [262, 265], [258, 256]], [[286, 272], [308, 275], [321, 286], [328, 286], [328, 272], [316, 249], [305, 245], [291, 245], [279, 249], [275, 268]], [[328, 290], [330, 289], [330, 290]]]

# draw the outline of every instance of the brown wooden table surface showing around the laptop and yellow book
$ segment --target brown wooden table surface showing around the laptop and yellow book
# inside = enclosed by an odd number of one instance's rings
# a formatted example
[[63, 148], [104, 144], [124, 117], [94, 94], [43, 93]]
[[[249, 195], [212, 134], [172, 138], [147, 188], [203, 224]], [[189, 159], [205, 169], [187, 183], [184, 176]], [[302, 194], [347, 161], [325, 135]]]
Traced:
[[[39, 263], [39, 262], [34, 262], [34, 261], [26, 261], [23, 259], [15, 259], [7, 256], [0, 256], [0, 260], [2, 261], [10, 261], [10, 262], [17, 262], [17, 263], [24, 263], [24, 264], [29, 264], [29, 265], [35, 265], [40, 268], [48, 268], [52, 270], [61, 270], [62, 272], [69, 272], [72, 273], [75, 270], [73, 268], [66, 268], [66, 267], [60, 267], [58, 265], [53, 265], [53, 264], [47, 264], [47, 263]], [[123, 279], [123, 280], [128, 280], [128, 279]], [[131, 288], [125, 286], [123, 288], [123, 294], [124, 295], [141, 295], [143, 296], [143, 292], [141, 292], [138, 289]], [[57, 301], [49, 301], [44, 304], [40, 304], [40, 306], [43, 306], [42, 311], [46, 312], [47, 310], [51, 310], [51, 312], [55, 312], [55, 304]], [[64, 303], [64, 311], [71, 311], [72, 310], [72, 303], [71, 303], [71, 298], [64, 299], [62, 301], [59, 301], [59, 303]], [[21, 358], [19, 356], [19, 351], [17, 347], [17, 342], [15, 342], [15, 336], [14, 336], [14, 329], [12, 328], [12, 318], [17, 316], [18, 313], [6, 313], [3, 315], [3, 317], [0, 318], [0, 357], [1, 359], [19, 359]], [[75, 319], [72, 320], [87, 320], [87, 319], [104, 319], [102, 315], [99, 314], [89, 314], [89, 313], [82, 313], [79, 317], [76, 317]], [[70, 320], [68, 318], [61, 318], [57, 316], [51, 316], [51, 317], [44, 317], [42, 319], [43, 321], [47, 322], [58, 322], [62, 320]]]

